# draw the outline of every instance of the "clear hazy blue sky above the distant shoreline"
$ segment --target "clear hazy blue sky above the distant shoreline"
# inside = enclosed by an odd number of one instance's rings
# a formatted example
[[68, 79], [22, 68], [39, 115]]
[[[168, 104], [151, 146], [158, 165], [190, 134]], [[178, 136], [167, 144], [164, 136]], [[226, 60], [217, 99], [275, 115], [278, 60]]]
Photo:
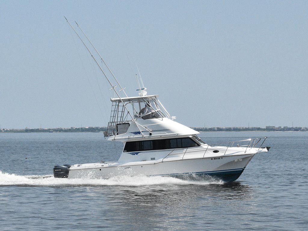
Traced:
[[107, 126], [111, 87], [63, 16], [129, 96], [139, 69], [148, 95], [181, 124], [308, 127], [307, 9], [307, 1], [0, 0], [1, 127]]

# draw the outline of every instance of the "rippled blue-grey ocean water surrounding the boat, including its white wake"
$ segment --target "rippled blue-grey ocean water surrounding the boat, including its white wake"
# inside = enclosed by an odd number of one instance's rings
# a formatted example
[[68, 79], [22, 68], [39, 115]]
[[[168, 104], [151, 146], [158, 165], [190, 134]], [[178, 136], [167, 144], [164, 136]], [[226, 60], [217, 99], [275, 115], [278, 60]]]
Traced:
[[308, 230], [308, 132], [202, 132], [208, 144], [267, 136], [231, 184], [170, 177], [55, 179], [56, 164], [115, 161], [102, 133], [0, 133], [0, 230]]

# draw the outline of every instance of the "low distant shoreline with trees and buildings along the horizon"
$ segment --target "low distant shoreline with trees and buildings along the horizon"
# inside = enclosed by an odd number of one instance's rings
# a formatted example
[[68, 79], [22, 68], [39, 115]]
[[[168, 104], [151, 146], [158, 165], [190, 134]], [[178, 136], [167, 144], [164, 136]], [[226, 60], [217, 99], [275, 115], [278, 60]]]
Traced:
[[[198, 132], [306, 132], [308, 128], [302, 127], [212, 127], [212, 128], [194, 128]], [[81, 128], [24, 128], [24, 129], [0, 129], [0, 133], [29, 133], [29, 132], [105, 132], [107, 127], [81, 127]]]

